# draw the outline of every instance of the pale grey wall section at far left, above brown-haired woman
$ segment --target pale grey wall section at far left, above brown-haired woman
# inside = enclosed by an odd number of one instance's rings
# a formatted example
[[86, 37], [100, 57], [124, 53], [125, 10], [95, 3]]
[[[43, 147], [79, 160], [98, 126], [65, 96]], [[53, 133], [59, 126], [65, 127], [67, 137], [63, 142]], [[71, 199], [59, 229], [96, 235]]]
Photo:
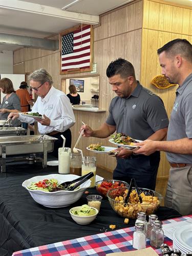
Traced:
[[0, 74], [13, 74], [13, 52], [0, 51]]

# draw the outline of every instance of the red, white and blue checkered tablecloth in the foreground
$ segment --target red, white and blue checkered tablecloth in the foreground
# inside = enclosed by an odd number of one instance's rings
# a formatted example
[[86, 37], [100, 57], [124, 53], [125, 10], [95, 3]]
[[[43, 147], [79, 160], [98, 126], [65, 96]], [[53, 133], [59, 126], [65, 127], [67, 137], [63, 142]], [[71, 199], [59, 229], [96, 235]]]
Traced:
[[[169, 219], [163, 224], [191, 220], [192, 215]], [[104, 256], [106, 253], [135, 250], [132, 246], [133, 232], [135, 227], [123, 228], [105, 233], [94, 234], [93, 236], [72, 239], [54, 244], [42, 245], [26, 250], [14, 252], [12, 256]], [[173, 241], [165, 237], [164, 242], [172, 246]], [[147, 247], [150, 241], [147, 240]], [[155, 250], [161, 254], [161, 249]]]

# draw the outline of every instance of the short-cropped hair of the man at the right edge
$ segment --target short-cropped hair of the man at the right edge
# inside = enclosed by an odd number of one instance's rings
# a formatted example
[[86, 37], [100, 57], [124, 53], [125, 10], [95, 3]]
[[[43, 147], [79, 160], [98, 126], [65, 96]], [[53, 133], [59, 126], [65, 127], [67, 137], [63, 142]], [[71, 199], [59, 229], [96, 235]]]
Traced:
[[192, 45], [186, 39], [177, 38], [167, 42], [167, 44], [157, 50], [158, 54], [162, 52], [165, 52], [168, 57], [174, 57], [179, 54], [192, 63]]

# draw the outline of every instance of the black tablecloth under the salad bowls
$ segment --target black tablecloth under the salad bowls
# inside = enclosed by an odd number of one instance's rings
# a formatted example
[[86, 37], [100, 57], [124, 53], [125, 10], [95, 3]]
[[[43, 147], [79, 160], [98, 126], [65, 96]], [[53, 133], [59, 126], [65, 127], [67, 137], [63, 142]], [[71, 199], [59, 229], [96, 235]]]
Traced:
[[[47, 208], [37, 204], [28, 191], [22, 187], [23, 181], [38, 175], [58, 173], [58, 166], [42, 169], [41, 164], [18, 164], [7, 166], [7, 173], [0, 175], [0, 255], [11, 255], [14, 251], [89, 236], [111, 230], [115, 224], [117, 229], [128, 225], [124, 218], [118, 216], [111, 208], [108, 199], [103, 199], [100, 212], [94, 222], [89, 225], [76, 224], [69, 209], [86, 204], [86, 194], [75, 204], [63, 208]], [[94, 188], [90, 194], [97, 194]], [[160, 220], [180, 217], [181, 215], [166, 207], [157, 211]]]

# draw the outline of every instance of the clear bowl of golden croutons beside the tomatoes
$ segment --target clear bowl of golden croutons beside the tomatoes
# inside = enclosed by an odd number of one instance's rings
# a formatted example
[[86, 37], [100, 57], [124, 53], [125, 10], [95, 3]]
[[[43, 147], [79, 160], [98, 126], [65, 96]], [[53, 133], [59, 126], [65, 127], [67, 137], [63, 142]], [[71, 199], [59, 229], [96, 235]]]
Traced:
[[117, 214], [122, 217], [136, 219], [137, 213], [140, 211], [145, 212], [146, 215], [153, 214], [158, 209], [163, 199], [162, 195], [154, 190], [140, 187], [138, 190], [141, 200], [139, 200], [135, 187], [133, 187], [127, 203], [125, 203], [125, 198], [128, 193], [127, 187], [111, 189], [106, 195], [111, 207]]

